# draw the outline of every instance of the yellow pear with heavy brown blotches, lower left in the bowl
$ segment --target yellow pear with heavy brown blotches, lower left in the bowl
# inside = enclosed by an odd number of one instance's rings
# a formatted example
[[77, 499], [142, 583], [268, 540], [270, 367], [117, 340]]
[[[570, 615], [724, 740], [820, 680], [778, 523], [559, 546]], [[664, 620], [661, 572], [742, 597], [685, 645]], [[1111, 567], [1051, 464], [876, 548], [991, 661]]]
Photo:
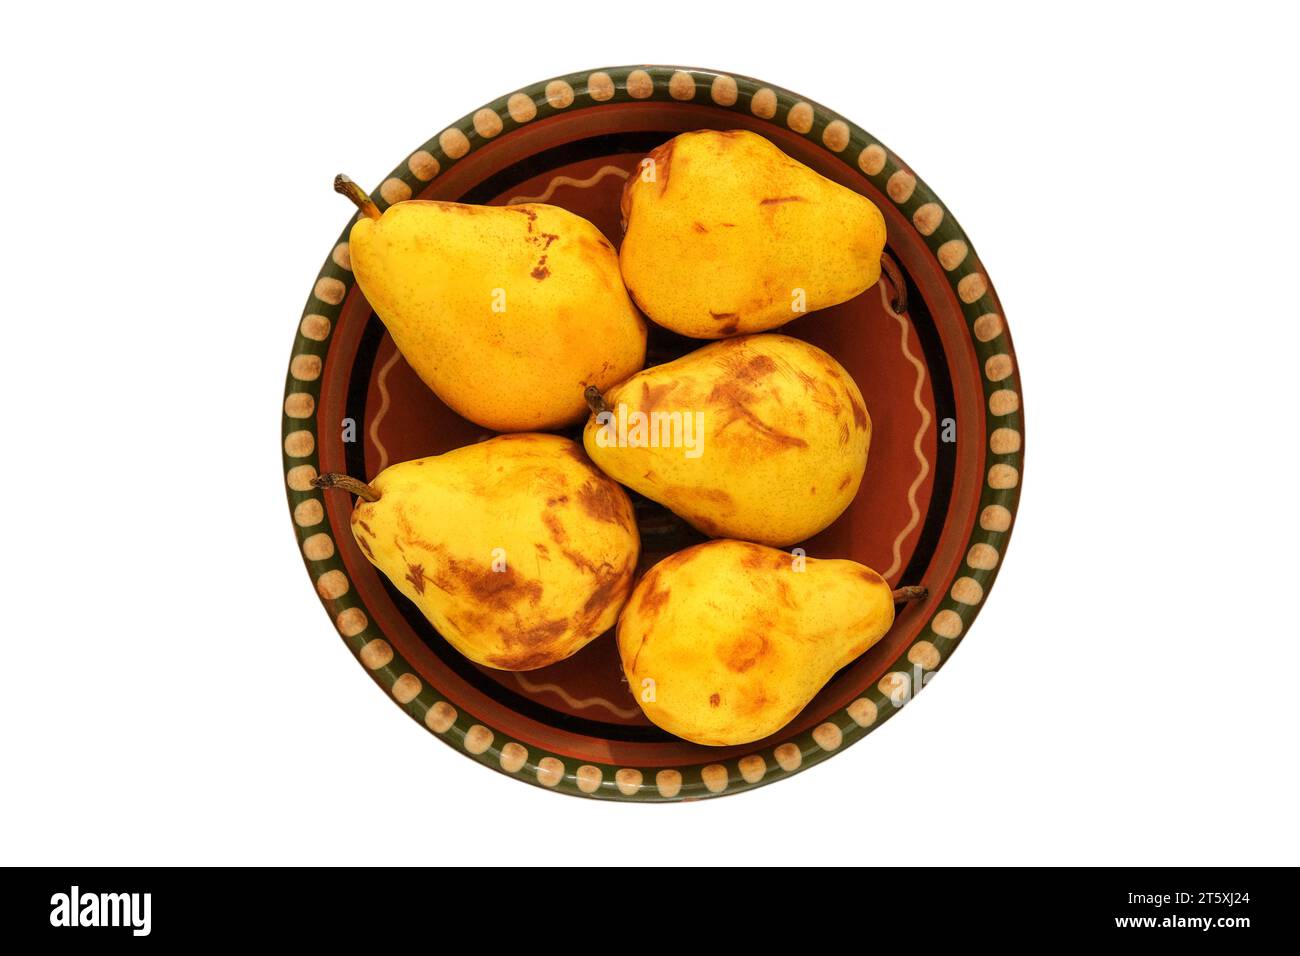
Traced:
[[569, 657], [618, 619], [641, 551], [632, 502], [555, 434], [503, 434], [402, 462], [356, 494], [365, 557], [462, 654], [533, 670]]

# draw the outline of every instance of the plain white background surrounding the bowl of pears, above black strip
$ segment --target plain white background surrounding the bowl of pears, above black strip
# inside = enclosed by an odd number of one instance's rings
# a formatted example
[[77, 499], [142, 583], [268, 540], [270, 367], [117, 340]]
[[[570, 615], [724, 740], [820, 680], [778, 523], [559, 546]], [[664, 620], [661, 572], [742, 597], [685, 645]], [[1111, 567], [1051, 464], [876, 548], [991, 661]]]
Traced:
[[[1296, 23], [1283, 7], [6, 10], [0, 861], [1297, 864]], [[1156, 5], [1152, 5], [1153, 8]], [[304, 574], [280, 408], [368, 186], [532, 81], [762, 77], [972, 237], [1023, 375], [1014, 544], [906, 714], [608, 805], [455, 754]]]

